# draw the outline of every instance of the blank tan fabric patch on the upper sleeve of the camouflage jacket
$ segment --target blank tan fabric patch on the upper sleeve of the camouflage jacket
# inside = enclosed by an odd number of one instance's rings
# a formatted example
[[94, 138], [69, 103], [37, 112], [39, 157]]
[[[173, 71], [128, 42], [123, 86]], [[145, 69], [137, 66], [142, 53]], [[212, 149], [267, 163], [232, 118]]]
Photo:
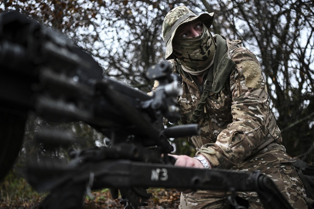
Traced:
[[244, 61], [242, 63], [245, 85], [249, 88], [259, 89], [262, 82], [262, 70], [255, 61]]

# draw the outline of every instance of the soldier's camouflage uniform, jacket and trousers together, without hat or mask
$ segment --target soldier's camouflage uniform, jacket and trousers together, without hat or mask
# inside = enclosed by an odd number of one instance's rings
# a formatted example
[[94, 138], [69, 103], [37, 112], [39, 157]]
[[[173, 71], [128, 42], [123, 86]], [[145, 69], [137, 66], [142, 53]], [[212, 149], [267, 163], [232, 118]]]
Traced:
[[[201, 134], [191, 137], [197, 154], [203, 154], [214, 168], [260, 170], [274, 180], [295, 208], [307, 208], [303, 184], [288, 162], [283, 146], [279, 145], [282, 142], [281, 133], [270, 110], [259, 62], [251, 51], [242, 47], [240, 40], [227, 39], [227, 46], [227, 56], [235, 61], [236, 67], [231, 71], [225, 87], [209, 96], [201, 112]], [[181, 67], [176, 60], [170, 62], [174, 71]], [[201, 92], [196, 83], [192, 76], [182, 76], [183, 94], [178, 99], [181, 123], [189, 123], [198, 105]], [[266, 148], [269, 149], [267, 152]], [[262, 208], [256, 193], [241, 193], [238, 196], [248, 199], [251, 208]], [[181, 208], [223, 208], [227, 204], [225, 197], [217, 192], [199, 191], [181, 198]], [[213, 207], [210, 202], [213, 202]], [[203, 204], [206, 206], [202, 207]]]

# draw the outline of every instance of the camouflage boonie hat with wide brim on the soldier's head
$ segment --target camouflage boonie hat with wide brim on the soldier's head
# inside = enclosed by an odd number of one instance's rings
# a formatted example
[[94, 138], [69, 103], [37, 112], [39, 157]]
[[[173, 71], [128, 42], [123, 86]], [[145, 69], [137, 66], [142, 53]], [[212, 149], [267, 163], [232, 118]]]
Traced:
[[172, 55], [172, 39], [176, 33], [176, 29], [181, 24], [191, 22], [197, 18], [199, 18], [209, 29], [214, 20], [214, 13], [203, 13], [197, 16], [186, 6], [179, 6], [173, 8], [165, 16], [164, 22], [162, 24], [162, 38], [166, 44], [166, 60], [175, 58]]

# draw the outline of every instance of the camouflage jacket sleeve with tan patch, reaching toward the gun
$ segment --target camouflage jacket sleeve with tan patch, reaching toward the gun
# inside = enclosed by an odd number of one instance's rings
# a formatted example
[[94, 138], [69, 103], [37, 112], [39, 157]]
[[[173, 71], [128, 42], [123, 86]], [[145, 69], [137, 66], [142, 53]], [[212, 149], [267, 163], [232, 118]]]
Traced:
[[264, 138], [268, 134], [265, 121], [270, 110], [260, 64], [246, 48], [232, 59], [236, 63], [230, 76], [232, 123], [219, 133], [215, 143], [204, 144], [197, 153], [203, 154], [213, 167], [224, 169], [269, 144]]

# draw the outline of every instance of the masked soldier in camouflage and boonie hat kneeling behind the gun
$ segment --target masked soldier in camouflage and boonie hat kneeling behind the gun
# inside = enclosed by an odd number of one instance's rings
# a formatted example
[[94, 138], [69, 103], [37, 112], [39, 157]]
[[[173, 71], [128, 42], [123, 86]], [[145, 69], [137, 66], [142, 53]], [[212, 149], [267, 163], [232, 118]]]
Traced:
[[[212, 35], [214, 13], [172, 9], [162, 26], [165, 59], [182, 76], [181, 123], [199, 123], [191, 138], [196, 157], [176, 156], [177, 166], [260, 171], [273, 179], [294, 208], [304, 209], [304, 186], [289, 161], [271, 112], [256, 56], [240, 40]], [[157, 87], [158, 84], [154, 86]], [[263, 208], [255, 192], [238, 192], [249, 208]], [[181, 193], [179, 208], [228, 208], [225, 192]]]

